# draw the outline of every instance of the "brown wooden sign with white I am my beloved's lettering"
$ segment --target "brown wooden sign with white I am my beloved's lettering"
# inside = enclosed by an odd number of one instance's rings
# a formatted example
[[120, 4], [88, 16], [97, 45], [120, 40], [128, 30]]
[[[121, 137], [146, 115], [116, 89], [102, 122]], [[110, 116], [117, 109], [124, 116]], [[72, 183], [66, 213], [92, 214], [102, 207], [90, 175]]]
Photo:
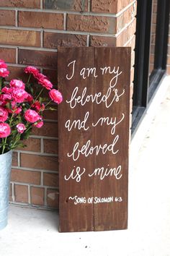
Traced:
[[130, 48], [59, 48], [60, 231], [127, 229]]

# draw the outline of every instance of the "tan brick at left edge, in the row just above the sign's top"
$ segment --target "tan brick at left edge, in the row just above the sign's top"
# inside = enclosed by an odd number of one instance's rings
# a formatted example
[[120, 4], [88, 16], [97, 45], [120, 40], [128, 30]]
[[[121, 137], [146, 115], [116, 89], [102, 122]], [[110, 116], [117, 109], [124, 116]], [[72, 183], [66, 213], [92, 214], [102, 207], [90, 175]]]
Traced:
[[0, 42], [14, 46], [40, 46], [40, 32], [0, 29]]

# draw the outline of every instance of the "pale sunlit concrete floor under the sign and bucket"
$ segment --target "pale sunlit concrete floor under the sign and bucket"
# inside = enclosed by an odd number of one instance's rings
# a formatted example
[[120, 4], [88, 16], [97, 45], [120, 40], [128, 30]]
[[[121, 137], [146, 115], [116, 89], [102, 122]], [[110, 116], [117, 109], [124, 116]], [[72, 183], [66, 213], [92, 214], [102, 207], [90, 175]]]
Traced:
[[128, 230], [60, 234], [58, 213], [11, 205], [0, 256], [170, 256], [169, 77], [156, 97], [130, 146]]

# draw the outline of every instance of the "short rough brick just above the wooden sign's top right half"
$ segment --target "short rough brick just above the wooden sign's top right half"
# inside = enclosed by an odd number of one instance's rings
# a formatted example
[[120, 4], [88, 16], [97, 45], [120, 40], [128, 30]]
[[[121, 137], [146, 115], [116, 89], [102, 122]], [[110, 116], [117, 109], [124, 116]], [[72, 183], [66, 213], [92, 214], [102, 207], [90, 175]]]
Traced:
[[109, 36], [91, 35], [90, 46], [115, 46], [116, 38]]

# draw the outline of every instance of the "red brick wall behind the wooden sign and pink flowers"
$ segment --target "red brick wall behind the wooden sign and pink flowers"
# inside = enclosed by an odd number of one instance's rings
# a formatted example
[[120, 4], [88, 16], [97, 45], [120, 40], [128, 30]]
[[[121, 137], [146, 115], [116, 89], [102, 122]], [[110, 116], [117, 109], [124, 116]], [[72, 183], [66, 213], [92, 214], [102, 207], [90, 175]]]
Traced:
[[[25, 80], [23, 68], [34, 65], [56, 84], [58, 46], [132, 46], [132, 98], [135, 13], [135, 0], [1, 0], [0, 56], [9, 79]], [[58, 208], [57, 113], [46, 113], [26, 143], [14, 151], [10, 200]]]

